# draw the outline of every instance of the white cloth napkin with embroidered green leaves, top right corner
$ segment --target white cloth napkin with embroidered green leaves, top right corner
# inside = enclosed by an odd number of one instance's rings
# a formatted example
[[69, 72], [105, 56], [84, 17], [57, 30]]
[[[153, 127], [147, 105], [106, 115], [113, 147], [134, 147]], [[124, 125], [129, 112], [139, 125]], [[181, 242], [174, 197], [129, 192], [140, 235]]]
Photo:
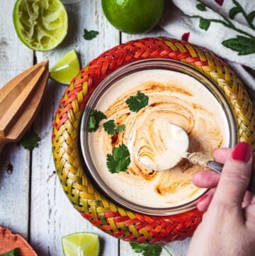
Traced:
[[254, 0], [167, 0], [159, 25], [224, 58], [255, 99]]

